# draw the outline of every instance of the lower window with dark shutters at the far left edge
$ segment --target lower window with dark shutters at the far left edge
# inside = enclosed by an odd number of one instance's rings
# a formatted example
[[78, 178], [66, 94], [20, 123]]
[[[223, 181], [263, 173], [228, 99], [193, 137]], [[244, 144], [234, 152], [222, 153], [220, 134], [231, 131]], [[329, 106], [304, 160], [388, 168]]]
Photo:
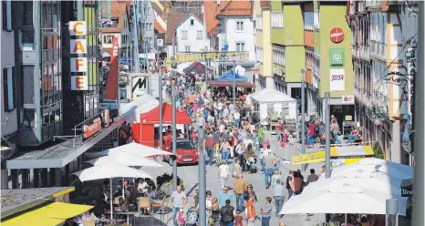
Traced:
[[3, 69], [2, 73], [5, 112], [13, 111], [16, 108], [16, 85], [14, 69], [14, 67], [7, 67]]

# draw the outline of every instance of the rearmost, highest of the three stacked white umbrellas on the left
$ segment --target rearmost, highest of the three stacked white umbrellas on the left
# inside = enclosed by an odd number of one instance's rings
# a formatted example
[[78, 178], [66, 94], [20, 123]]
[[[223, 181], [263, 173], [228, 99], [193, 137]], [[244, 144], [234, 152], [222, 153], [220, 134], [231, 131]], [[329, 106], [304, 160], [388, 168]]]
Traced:
[[117, 154], [123, 153], [123, 152], [127, 152], [131, 155], [135, 155], [141, 158], [145, 158], [148, 156], [156, 156], [156, 155], [174, 155], [171, 152], [164, 151], [161, 149], [151, 148], [149, 146], [138, 144], [136, 142], [131, 142], [130, 144], [126, 144], [126, 145], [121, 145], [113, 149], [102, 150], [99, 152], [99, 154], [116, 156]]

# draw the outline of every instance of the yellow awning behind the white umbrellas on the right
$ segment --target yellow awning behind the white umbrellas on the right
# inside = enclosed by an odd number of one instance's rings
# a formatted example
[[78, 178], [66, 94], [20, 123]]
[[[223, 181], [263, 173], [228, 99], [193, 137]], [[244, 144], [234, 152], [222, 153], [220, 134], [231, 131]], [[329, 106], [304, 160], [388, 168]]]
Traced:
[[[331, 147], [331, 159], [353, 159], [355, 162], [358, 159], [374, 157], [373, 149], [370, 146], [346, 146], [346, 147]], [[357, 159], [357, 160], [354, 160]], [[292, 157], [291, 164], [310, 164], [325, 161], [325, 150], [317, 151], [315, 153], [295, 155]]]

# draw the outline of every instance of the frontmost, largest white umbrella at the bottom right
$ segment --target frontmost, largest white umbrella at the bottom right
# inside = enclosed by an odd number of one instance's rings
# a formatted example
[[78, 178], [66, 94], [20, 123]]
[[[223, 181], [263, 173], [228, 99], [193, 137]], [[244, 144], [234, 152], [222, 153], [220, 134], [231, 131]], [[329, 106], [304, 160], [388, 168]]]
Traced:
[[406, 215], [407, 198], [404, 199], [404, 197], [401, 198], [378, 190], [359, 188], [349, 184], [335, 186], [327, 190], [303, 192], [301, 195], [291, 197], [285, 202], [279, 214], [306, 212], [385, 214], [386, 200], [389, 198], [398, 199], [399, 214]]

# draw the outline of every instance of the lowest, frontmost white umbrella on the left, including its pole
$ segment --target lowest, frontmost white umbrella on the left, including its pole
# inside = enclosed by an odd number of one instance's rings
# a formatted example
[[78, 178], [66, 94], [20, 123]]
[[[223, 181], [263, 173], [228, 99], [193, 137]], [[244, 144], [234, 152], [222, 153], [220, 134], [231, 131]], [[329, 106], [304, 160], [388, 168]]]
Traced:
[[80, 170], [73, 173], [82, 182], [87, 180], [101, 180], [109, 179], [110, 183], [110, 219], [113, 218], [113, 206], [112, 206], [112, 178], [152, 178], [149, 173], [136, 170], [130, 167], [122, 166], [116, 163], [107, 163], [101, 166], [90, 167], [85, 170]]

